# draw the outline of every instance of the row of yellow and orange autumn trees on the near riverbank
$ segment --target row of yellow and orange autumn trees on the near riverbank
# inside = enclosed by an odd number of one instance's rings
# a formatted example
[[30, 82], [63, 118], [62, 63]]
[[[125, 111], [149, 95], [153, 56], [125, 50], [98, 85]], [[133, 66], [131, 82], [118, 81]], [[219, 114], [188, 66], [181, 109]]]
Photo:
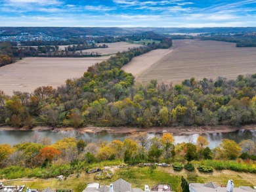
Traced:
[[[232, 140], [224, 139], [219, 147], [214, 149], [210, 149], [208, 144], [207, 138], [203, 136], [198, 137], [196, 144], [175, 144], [173, 136], [169, 133], [148, 138], [146, 132], [131, 134], [123, 142], [98, 140], [87, 143], [75, 138], [63, 138], [51, 144], [49, 138], [41, 138], [34, 134], [30, 142], [14, 146], [0, 144], [0, 167], [32, 168], [51, 163], [68, 164], [76, 161], [91, 164], [115, 159], [127, 164], [164, 162], [174, 165], [207, 159], [228, 161], [242, 158], [240, 161], [247, 163], [256, 160], [256, 144], [252, 140], [243, 140], [240, 144], [236, 144]], [[244, 157], [245, 155], [248, 157]], [[188, 165], [192, 166], [190, 163]]]

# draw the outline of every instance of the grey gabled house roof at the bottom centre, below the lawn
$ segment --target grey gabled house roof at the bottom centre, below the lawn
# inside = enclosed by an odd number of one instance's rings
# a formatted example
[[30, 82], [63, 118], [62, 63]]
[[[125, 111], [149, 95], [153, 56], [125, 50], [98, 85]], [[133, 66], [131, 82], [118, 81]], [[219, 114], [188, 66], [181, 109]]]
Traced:
[[83, 192], [143, 192], [143, 190], [132, 188], [131, 183], [119, 179], [109, 186], [100, 186], [100, 183], [89, 183]]

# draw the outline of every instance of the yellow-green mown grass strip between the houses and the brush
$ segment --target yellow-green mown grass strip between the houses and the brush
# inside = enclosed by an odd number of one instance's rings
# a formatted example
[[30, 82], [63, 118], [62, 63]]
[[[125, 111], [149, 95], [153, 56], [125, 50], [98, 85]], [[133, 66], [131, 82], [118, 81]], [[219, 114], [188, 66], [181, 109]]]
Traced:
[[[5, 185], [26, 185], [26, 187], [42, 189], [46, 187], [68, 189], [72, 188], [75, 192], [81, 192], [86, 187], [87, 183], [93, 182], [95, 174], [81, 173], [79, 177], [76, 174], [68, 176], [66, 180], [58, 181], [56, 178], [47, 180], [34, 179], [31, 181], [24, 180], [9, 180], [0, 181]], [[201, 173], [198, 170], [189, 172], [186, 170], [175, 171], [173, 168], [162, 168], [158, 167], [156, 170], [151, 170], [149, 167], [138, 168], [137, 166], [129, 168], [119, 168], [115, 170], [114, 177], [112, 179], [100, 180], [101, 185], [109, 185], [119, 178], [127, 180], [132, 183], [133, 187], [140, 187], [144, 189], [144, 185], [155, 185], [158, 182], [169, 182], [171, 183], [174, 191], [180, 191], [181, 176], [184, 176], [188, 182], [215, 182], [219, 185], [226, 184], [229, 179], [232, 179], [236, 186], [239, 185], [256, 185], [256, 175], [244, 172], [234, 172], [231, 170], [215, 170], [213, 173]]]

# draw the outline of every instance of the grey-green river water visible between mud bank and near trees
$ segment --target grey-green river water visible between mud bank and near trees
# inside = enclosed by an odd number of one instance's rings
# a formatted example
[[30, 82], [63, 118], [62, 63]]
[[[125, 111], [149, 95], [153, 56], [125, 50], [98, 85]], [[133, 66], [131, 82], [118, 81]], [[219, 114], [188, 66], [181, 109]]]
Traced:
[[[33, 134], [38, 134], [41, 137], [47, 137], [51, 139], [51, 142], [54, 143], [57, 140], [60, 140], [64, 137], [74, 137], [77, 139], [83, 139], [87, 142], [95, 142], [96, 140], [107, 140], [108, 142], [112, 140], [121, 140], [123, 141], [126, 136], [129, 134], [114, 134], [110, 132], [98, 132], [97, 134], [81, 134], [75, 130], [0, 130], [0, 144], [18, 144], [20, 142], [29, 142]], [[161, 136], [161, 134], [148, 134], [149, 138], [153, 136]], [[211, 133], [211, 134], [201, 134], [206, 136], [209, 141], [209, 147], [217, 147], [223, 139], [234, 140], [235, 142], [241, 142], [242, 140], [254, 140], [256, 141], [256, 130], [238, 130], [236, 132], [226, 132], [226, 133]], [[190, 134], [188, 136], [173, 136], [176, 143], [181, 142], [193, 142], [196, 143], [196, 140], [200, 134]]]

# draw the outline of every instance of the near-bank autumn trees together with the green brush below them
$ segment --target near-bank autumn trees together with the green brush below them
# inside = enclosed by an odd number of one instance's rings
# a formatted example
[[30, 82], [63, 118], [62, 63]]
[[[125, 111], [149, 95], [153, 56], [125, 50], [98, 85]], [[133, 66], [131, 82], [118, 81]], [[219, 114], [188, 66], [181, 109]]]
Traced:
[[[196, 144], [175, 144], [173, 136], [148, 138], [146, 132], [127, 136], [123, 142], [85, 142], [75, 138], [62, 138], [51, 144], [49, 138], [33, 134], [29, 142], [16, 145], [0, 144], [0, 178], [37, 177], [53, 178], [60, 174], [68, 176], [75, 172], [89, 171], [93, 164], [108, 161], [155, 166], [153, 163], [171, 164], [174, 170], [213, 172], [234, 170], [256, 173], [256, 144], [243, 140], [240, 144], [224, 139], [219, 147], [210, 149], [204, 136]], [[225, 160], [225, 161], [223, 161]], [[112, 163], [111, 163], [112, 162]], [[51, 170], [51, 171], [50, 171]], [[2, 178], [3, 179], [3, 178]]]

